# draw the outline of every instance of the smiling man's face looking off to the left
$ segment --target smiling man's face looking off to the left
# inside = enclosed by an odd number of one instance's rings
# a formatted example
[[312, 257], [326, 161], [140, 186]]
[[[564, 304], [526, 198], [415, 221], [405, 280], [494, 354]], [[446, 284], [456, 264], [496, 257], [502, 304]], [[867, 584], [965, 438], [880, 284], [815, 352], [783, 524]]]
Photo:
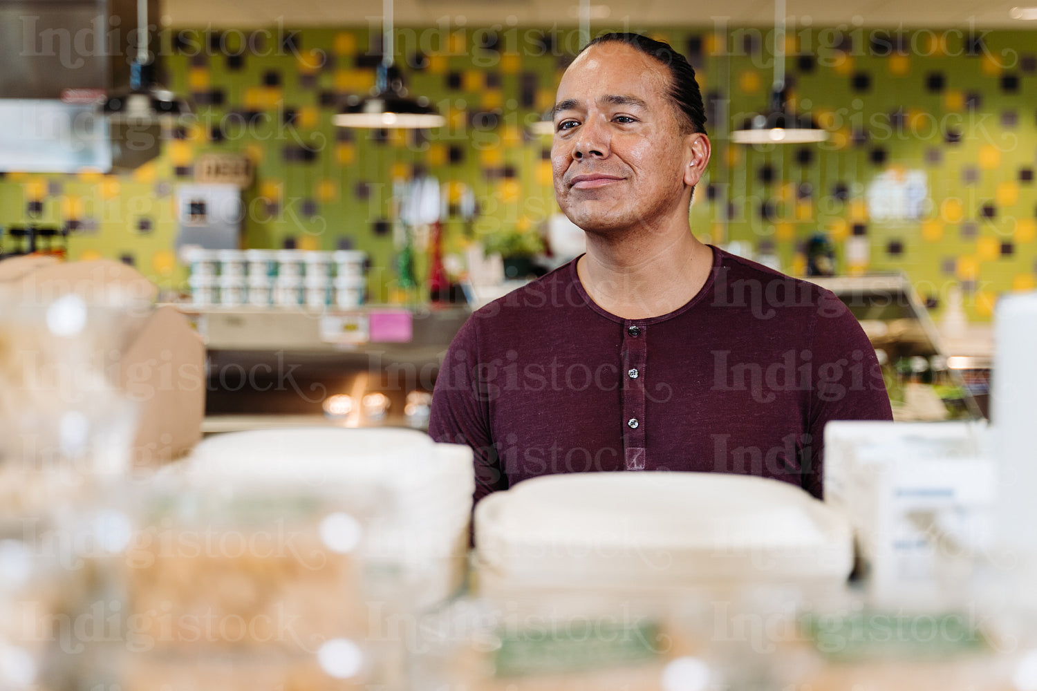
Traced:
[[621, 42], [593, 46], [565, 70], [551, 161], [558, 204], [584, 230], [686, 223], [688, 140], [669, 80], [665, 65]]

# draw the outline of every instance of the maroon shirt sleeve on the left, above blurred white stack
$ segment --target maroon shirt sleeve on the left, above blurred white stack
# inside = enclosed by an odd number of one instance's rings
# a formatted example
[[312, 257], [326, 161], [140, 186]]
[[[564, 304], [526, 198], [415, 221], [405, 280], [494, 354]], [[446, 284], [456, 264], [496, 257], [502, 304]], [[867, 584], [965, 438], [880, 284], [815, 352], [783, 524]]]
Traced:
[[472, 449], [474, 500], [508, 488], [489, 425], [485, 382], [480, 376], [478, 319], [470, 318], [447, 349], [436, 378], [428, 434], [436, 441]]

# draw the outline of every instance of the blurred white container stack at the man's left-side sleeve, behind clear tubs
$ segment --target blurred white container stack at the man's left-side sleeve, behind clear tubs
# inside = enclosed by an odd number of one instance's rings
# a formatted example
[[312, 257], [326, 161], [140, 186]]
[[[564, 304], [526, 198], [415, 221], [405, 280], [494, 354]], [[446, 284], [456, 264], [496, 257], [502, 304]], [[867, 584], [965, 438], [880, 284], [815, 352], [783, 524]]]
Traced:
[[208, 437], [190, 459], [194, 484], [333, 493], [363, 516], [358, 547], [373, 597], [422, 608], [463, 583], [472, 452], [416, 430], [297, 428]]

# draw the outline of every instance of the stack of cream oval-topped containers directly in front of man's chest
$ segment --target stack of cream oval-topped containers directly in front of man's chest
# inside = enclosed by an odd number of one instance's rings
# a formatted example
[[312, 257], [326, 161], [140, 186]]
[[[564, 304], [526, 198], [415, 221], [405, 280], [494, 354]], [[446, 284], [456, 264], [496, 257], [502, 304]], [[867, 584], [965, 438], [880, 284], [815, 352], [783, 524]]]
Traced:
[[699, 472], [548, 476], [481, 500], [479, 588], [840, 584], [841, 516], [779, 481]]

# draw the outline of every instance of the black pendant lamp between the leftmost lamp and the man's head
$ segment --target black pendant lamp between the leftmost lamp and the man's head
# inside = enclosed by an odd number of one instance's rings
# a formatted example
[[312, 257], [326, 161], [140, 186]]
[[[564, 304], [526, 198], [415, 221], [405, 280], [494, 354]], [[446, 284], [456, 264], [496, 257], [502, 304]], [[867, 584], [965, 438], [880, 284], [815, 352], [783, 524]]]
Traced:
[[382, 4], [382, 63], [375, 74], [374, 94], [367, 98], [352, 96], [332, 122], [340, 127], [376, 129], [426, 129], [447, 122], [428, 98], [408, 96], [403, 78], [393, 67], [392, 0], [383, 0]]

